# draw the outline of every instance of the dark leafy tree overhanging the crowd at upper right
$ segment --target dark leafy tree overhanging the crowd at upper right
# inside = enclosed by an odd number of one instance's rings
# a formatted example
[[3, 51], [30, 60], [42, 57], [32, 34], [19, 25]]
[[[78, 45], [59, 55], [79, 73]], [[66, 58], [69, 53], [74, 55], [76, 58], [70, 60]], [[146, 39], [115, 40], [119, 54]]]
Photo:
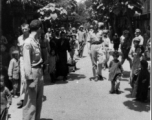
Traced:
[[141, 0], [92, 0], [92, 4], [96, 19], [109, 22], [115, 32], [129, 29], [133, 33], [131, 19], [142, 13]]

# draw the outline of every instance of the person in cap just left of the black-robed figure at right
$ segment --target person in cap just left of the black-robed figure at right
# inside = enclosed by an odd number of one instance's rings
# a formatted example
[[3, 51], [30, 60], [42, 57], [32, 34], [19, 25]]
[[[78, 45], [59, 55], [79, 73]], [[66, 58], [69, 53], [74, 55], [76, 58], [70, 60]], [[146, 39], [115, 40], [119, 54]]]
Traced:
[[134, 47], [132, 47], [129, 52], [129, 57], [132, 59], [132, 67], [130, 73], [130, 84], [132, 87], [133, 87], [133, 77], [136, 74], [136, 70], [138, 70], [140, 67], [140, 60], [144, 52], [143, 47], [139, 45], [140, 44], [139, 37], [135, 37], [133, 43], [134, 43]]

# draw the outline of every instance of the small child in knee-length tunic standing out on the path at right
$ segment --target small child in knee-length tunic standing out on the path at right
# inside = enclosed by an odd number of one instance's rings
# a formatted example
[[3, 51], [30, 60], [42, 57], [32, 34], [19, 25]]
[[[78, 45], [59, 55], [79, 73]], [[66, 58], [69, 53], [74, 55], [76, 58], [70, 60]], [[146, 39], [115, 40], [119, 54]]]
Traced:
[[109, 64], [109, 80], [111, 81], [110, 94], [119, 94], [120, 79], [123, 73], [121, 62], [118, 60], [119, 53], [113, 52], [113, 60]]

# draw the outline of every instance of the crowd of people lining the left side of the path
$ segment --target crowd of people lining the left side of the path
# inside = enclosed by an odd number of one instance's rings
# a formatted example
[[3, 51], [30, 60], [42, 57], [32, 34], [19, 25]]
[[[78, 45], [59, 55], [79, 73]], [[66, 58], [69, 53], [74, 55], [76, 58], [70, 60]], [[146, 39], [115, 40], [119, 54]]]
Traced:
[[[44, 75], [50, 74], [51, 83], [55, 83], [57, 79], [67, 80], [69, 74], [67, 51], [71, 64], [74, 63], [76, 69], [75, 58], [83, 56], [86, 32], [83, 26], [80, 26], [79, 30], [74, 27], [69, 30], [64, 27], [48, 28], [45, 33], [39, 20], [22, 24], [21, 30], [23, 34], [13, 42], [9, 52], [6, 51], [6, 43], [1, 45], [0, 77], [1, 82], [5, 82], [1, 86], [4, 94], [5, 91], [7, 93], [3, 97], [5, 101], [6, 97], [10, 97], [9, 104], [11, 104], [11, 97], [19, 96], [17, 105], [18, 108], [23, 107], [23, 120], [39, 120]], [[3, 110], [1, 113], [4, 113]], [[5, 119], [6, 114], [2, 116], [2, 119]]]

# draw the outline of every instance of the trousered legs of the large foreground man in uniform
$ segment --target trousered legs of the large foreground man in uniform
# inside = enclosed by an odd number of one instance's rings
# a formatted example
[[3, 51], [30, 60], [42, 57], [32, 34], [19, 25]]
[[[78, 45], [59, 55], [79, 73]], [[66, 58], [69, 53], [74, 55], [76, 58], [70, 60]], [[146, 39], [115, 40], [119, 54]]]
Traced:
[[23, 120], [40, 120], [43, 97], [43, 74], [41, 68], [33, 68], [33, 80], [35, 88], [30, 88], [31, 80], [27, 80]]

